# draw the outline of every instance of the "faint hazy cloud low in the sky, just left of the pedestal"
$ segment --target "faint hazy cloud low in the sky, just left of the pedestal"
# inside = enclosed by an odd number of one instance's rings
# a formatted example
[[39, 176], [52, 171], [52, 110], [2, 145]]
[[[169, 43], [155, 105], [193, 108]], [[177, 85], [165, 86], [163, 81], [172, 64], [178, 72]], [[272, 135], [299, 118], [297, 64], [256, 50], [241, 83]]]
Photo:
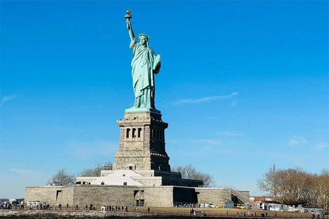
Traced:
[[115, 153], [119, 148], [118, 142], [74, 142], [69, 145], [72, 154], [77, 157], [85, 158], [94, 155], [108, 156]]

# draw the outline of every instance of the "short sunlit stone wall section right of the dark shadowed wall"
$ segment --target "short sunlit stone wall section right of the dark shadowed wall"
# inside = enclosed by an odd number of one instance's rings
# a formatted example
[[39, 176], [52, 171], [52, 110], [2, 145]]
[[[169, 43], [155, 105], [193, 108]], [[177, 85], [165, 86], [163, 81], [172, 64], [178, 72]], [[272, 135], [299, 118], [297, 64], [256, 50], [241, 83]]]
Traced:
[[198, 193], [198, 203], [225, 206], [225, 201], [232, 199], [230, 189], [195, 188], [195, 191]]

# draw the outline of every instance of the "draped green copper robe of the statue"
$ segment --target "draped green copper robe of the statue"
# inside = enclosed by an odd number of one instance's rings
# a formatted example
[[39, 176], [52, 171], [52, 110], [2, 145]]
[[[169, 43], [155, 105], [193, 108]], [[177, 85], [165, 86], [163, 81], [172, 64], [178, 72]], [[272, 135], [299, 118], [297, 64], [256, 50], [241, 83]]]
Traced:
[[134, 58], [132, 60], [132, 77], [135, 93], [134, 108], [154, 108], [155, 83], [154, 74], [160, 71], [160, 63], [153, 70], [155, 53], [150, 47], [143, 48], [134, 38], [130, 43]]

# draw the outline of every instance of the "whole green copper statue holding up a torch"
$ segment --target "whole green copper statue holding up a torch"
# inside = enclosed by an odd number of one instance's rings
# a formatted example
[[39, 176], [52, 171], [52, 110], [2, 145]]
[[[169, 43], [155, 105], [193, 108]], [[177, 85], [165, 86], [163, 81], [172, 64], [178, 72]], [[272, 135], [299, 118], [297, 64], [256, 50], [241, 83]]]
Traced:
[[130, 22], [131, 11], [125, 15], [127, 29], [131, 39], [130, 48], [133, 50], [134, 58], [132, 60], [132, 77], [135, 93], [135, 104], [132, 108], [126, 109], [126, 112], [154, 111], [155, 83], [154, 74], [158, 74], [161, 67], [160, 55], [155, 55], [153, 49], [149, 47], [149, 38], [141, 33], [138, 36], [139, 43]]

